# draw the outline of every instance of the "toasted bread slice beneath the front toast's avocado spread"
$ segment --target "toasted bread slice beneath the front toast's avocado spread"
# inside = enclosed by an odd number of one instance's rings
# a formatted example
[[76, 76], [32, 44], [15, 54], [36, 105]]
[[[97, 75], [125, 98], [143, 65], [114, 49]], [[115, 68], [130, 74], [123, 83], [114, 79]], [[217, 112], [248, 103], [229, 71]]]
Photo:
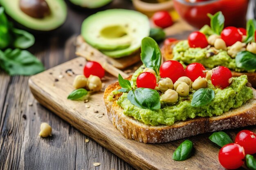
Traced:
[[[128, 79], [130, 78], [131, 76], [128, 77]], [[114, 95], [112, 101], [108, 99], [112, 91], [120, 88], [118, 82], [109, 85], [104, 92], [104, 103], [108, 118], [121, 134], [128, 139], [155, 144], [205, 132], [256, 125], [256, 90], [254, 88], [254, 99], [249, 100], [240, 108], [231, 109], [220, 116], [196, 117], [186, 121], [178, 121], [172, 126], [150, 126], [124, 115], [123, 108], [116, 103], [121, 94]]]

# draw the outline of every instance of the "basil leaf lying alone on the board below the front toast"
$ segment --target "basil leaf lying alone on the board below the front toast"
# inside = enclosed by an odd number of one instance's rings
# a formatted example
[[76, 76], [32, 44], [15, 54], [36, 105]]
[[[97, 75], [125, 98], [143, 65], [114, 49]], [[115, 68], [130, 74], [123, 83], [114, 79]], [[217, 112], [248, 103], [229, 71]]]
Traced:
[[185, 140], [178, 146], [178, 148], [173, 153], [173, 160], [175, 161], [184, 161], [191, 157], [193, 150], [193, 142], [190, 140]]

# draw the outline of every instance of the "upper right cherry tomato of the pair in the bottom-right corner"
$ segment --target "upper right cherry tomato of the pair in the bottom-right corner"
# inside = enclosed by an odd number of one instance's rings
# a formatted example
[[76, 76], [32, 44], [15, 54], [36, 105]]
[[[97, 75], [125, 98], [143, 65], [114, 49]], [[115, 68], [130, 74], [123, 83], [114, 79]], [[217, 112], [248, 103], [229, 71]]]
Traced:
[[256, 153], [256, 134], [250, 130], [242, 130], [236, 135], [235, 143], [243, 146], [245, 154]]

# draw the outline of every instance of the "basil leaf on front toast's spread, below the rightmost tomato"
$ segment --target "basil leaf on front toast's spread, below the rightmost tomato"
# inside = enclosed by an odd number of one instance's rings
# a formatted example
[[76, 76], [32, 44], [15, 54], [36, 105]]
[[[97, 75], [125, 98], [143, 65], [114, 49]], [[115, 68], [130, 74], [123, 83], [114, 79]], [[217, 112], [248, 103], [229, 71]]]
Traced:
[[209, 104], [215, 97], [214, 91], [211, 88], [200, 88], [193, 94], [191, 106], [199, 107]]

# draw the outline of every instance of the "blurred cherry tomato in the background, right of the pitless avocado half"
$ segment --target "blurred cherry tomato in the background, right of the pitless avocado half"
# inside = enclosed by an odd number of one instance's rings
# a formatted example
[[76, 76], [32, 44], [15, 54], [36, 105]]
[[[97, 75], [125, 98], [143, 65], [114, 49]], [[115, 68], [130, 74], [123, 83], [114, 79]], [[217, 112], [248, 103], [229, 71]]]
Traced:
[[173, 19], [168, 11], [158, 11], [154, 13], [152, 20], [156, 26], [161, 28], [166, 28], [173, 24]]

